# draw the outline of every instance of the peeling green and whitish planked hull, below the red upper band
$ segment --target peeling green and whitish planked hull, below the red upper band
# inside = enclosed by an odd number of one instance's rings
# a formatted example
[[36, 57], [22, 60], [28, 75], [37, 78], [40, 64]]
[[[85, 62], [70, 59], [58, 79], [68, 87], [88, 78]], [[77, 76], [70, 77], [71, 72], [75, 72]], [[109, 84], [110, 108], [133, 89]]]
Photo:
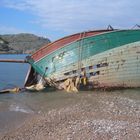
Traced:
[[118, 30], [71, 42], [35, 61], [46, 80], [86, 73], [93, 87], [140, 87], [140, 30]]

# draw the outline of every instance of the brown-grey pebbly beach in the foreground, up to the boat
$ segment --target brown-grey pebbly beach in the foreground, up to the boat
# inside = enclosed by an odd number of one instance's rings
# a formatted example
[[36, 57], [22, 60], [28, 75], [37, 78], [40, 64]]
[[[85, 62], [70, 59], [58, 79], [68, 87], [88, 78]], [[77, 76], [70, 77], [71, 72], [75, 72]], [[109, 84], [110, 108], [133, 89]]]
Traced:
[[140, 94], [127, 94], [127, 90], [123, 93], [62, 93], [59, 98], [53, 97], [50, 103], [42, 102], [34, 115], [26, 118], [20, 127], [1, 133], [0, 138], [139, 140]]

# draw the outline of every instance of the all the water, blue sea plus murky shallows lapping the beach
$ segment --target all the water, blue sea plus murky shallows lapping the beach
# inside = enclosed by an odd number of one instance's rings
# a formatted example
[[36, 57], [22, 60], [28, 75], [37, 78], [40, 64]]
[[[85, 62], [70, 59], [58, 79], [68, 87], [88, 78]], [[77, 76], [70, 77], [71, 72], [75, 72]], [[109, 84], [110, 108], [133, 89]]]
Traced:
[[[0, 59], [24, 59], [26, 55], [0, 55]], [[23, 87], [29, 64], [0, 63], [0, 89]], [[106, 92], [107, 93], [107, 92]], [[106, 94], [105, 93], [105, 94]], [[63, 91], [22, 92], [0, 94], [0, 133], [19, 126], [26, 117], [77, 103], [88, 94], [104, 94], [102, 91], [83, 91], [68, 94]], [[140, 100], [140, 89], [118, 90], [107, 93], [109, 96], [122, 96]]]

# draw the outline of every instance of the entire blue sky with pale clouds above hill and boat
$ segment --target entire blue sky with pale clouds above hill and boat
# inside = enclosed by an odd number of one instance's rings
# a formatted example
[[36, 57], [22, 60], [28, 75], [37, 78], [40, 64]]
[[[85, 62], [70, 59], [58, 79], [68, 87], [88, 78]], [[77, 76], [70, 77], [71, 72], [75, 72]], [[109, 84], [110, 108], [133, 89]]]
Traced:
[[0, 0], [0, 34], [51, 41], [88, 30], [140, 24], [140, 0]]

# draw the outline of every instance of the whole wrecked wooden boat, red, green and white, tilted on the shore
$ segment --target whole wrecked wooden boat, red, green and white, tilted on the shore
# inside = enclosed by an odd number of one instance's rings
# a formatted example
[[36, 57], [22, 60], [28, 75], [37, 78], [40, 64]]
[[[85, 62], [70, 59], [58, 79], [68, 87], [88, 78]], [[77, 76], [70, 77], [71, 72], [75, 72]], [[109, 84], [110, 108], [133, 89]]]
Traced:
[[73, 34], [42, 47], [27, 62], [25, 86], [36, 83], [39, 74], [56, 88], [65, 89], [69, 81], [77, 88], [140, 87], [140, 30]]

